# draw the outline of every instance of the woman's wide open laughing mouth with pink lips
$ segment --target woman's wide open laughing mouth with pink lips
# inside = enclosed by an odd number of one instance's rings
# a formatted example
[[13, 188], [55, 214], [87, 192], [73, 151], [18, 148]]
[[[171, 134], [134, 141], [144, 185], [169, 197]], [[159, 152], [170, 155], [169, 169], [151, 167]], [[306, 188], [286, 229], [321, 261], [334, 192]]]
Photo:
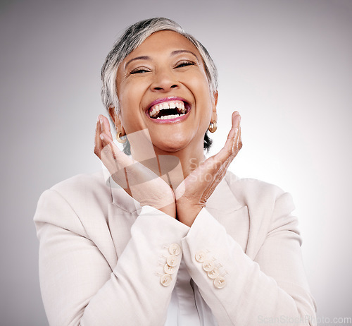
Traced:
[[191, 105], [181, 100], [169, 100], [151, 106], [148, 110], [151, 119], [175, 119], [184, 116], [191, 109]]

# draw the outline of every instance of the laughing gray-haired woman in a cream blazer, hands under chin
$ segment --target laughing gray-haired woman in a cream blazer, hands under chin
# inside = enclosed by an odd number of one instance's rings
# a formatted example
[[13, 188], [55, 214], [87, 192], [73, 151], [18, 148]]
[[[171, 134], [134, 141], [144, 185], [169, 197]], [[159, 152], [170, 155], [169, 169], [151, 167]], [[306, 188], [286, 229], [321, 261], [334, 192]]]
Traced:
[[315, 325], [288, 193], [227, 171], [240, 116], [217, 128], [217, 73], [177, 23], [128, 28], [103, 65], [108, 119], [79, 175], [39, 199], [34, 222], [50, 325]]

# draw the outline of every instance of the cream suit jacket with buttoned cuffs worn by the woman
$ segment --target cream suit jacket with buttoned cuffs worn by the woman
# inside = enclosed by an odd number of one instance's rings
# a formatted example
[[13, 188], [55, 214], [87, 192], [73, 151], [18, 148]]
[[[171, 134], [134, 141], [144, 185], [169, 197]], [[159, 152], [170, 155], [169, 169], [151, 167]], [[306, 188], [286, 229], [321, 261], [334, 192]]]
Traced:
[[34, 216], [49, 323], [164, 325], [183, 262], [218, 325], [316, 325], [292, 210], [289, 193], [230, 171], [190, 228], [102, 171], [58, 183]]

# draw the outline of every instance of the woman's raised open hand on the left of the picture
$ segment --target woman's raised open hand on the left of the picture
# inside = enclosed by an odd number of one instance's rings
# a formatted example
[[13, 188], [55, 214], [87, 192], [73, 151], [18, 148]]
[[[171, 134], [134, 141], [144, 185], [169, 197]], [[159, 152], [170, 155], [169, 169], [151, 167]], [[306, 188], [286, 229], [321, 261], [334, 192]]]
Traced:
[[110, 123], [103, 115], [99, 115], [96, 122], [94, 153], [106, 166], [115, 183], [141, 206], [149, 205], [176, 217], [175, 194], [172, 188], [161, 176], [119, 150], [113, 143]]

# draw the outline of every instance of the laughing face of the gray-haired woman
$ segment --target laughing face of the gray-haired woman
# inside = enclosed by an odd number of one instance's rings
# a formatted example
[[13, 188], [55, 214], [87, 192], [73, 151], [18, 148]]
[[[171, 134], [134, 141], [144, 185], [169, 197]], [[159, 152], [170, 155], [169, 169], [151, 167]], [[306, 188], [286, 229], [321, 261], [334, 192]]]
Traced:
[[203, 150], [215, 102], [201, 55], [187, 38], [170, 30], [149, 36], [120, 64], [117, 91], [127, 135], [147, 128], [163, 152]]

